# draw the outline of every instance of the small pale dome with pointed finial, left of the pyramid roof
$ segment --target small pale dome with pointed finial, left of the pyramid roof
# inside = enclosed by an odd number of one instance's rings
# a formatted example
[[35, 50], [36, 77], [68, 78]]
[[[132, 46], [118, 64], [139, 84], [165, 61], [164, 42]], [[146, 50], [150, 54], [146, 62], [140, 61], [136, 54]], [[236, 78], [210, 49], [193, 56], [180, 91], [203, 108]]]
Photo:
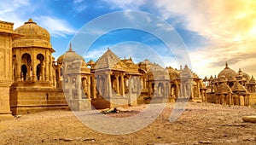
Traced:
[[78, 55], [75, 51], [73, 51], [72, 45], [70, 44], [68, 51], [57, 59], [57, 62], [60, 64], [62, 64], [63, 61], [65, 62], [84, 61], [84, 58], [81, 55]]

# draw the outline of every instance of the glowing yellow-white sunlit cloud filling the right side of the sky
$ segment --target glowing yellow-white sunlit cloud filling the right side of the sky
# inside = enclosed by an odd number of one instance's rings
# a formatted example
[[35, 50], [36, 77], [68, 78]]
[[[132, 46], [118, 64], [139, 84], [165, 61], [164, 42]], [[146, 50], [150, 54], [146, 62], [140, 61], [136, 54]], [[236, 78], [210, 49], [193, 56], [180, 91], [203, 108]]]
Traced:
[[[189, 55], [196, 73], [212, 74], [231, 66], [254, 67], [256, 46], [256, 1], [252, 0], [161, 0], [111, 1], [113, 8], [143, 9], [159, 15], [172, 26], [183, 27], [204, 37], [207, 45], [190, 49]], [[240, 66], [238, 66], [240, 65]], [[216, 70], [218, 68], [218, 70]], [[256, 74], [256, 71], [249, 71]]]

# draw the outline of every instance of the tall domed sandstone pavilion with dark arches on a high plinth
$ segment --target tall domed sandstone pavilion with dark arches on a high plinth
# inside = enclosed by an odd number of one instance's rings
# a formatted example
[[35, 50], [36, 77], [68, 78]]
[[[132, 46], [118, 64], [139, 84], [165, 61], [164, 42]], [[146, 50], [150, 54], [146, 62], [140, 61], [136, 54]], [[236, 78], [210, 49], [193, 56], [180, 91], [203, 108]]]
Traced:
[[21, 35], [12, 43], [10, 109], [13, 114], [65, 108], [61, 88], [56, 88], [50, 35], [32, 19], [15, 29]]

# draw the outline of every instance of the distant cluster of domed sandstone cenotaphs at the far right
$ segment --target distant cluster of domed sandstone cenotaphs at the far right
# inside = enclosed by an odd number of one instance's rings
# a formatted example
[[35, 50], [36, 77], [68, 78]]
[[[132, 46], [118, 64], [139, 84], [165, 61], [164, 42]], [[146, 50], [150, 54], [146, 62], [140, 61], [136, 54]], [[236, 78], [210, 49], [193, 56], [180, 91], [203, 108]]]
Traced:
[[236, 73], [228, 66], [224, 67], [218, 78], [204, 78], [207, 85], [207, 101], [225, 105], [249, 106], [256, 103], [256, 81], [239, 69]]

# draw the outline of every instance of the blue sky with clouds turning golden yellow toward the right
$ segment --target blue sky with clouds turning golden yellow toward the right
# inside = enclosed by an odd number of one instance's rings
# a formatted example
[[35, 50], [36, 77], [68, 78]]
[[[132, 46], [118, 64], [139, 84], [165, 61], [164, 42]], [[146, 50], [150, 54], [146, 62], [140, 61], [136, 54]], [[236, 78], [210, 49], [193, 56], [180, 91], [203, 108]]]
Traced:
[[49, 31], [55, 60], [86, 30], [95, 41], [73, 44], [85, 61], [96, 61], [109, 47], [122, 59], [174, 68], [189, 63], [201, 78], [218, 75], [226, 62], [256, 77], [255, 8], [255, 0], [0, 0], [0, 20], [17, 28], [32, 18]]

